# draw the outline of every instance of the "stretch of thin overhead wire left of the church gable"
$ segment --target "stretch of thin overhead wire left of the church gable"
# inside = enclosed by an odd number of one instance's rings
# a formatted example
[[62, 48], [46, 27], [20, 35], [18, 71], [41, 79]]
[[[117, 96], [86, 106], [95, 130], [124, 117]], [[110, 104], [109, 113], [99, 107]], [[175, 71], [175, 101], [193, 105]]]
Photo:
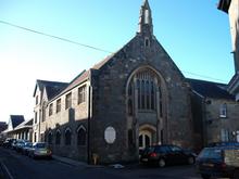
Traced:
[[26, 27], [23, 27], [23, 26], [18, 26], [18, 25], [8, 23], [8, 22], [4, 22], [4, 21], [0, 21], [0, 23], [12, 26], [12, 27], [21, 28], [21, 29], [24, 29], [24, 30], [27, 30], [27, 31], [30, 31], [30, 33], [35, 33], [35, 34], [38, 34], [38, 35], [42, 35], [42, 36], [47, 36], [47, 37], [54, 38], [54, 39], [58, 39], [58, 40], [66, 41], [66, 42], [74, 43], [74, 44], [77, 44], [77, 46], [81, 46], [81, 47], [85, 47], [85, 48], [90, 48], [90, 49], [93, 49], [93, 50], [97, 50], [97, 51], [101, 51], [101, 52], [105, 52], [105, 53], [112, 53], [108, 50], [96, 48], [96, 47], [92, 47], [92, 46], [89, 46], [89, 44], [79, 43], [77, 41], [73, 41], [73, 40], [70, 40], [70, 39], [66, 39], [66, 38], [49, 35], [49, 34], [46, 34], [46, 33], [37, 31], [37, 30], [34, 30], [34, 29], [26, 28]]

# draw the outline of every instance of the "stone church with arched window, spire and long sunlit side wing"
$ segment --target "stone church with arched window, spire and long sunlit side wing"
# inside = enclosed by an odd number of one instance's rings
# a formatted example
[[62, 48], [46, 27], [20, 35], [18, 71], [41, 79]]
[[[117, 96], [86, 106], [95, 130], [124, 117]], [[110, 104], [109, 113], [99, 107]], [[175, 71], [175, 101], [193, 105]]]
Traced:
[[150, 144], [202, 148], [203, 117], [196, 123], [192, 91], [153, 35], [144, 0], [136, 36], [116, 53], [70, 84], [37, 80], [33, 139], [89, 163], [137, 161]]

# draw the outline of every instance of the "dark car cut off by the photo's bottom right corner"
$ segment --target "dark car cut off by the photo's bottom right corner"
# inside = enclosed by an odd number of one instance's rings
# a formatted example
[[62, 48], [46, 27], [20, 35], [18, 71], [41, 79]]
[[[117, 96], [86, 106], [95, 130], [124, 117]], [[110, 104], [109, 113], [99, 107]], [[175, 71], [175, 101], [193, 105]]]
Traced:
[[239, 179], [239, 149], [235, 146], [205, 148], [196, 159], [203, 179], [211, 177]]

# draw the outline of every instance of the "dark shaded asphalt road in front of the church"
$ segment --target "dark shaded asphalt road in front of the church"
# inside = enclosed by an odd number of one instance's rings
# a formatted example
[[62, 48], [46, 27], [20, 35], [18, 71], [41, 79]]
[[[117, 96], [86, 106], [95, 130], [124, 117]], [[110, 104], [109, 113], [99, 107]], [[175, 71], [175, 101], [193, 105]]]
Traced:
[[109, 166], [73, 166], [56, 159], [32, 159], [13, 150], [0, 148], [2, 179], [200, 179], [193, 166], [166, 168], [129, 165], [123, 169]]

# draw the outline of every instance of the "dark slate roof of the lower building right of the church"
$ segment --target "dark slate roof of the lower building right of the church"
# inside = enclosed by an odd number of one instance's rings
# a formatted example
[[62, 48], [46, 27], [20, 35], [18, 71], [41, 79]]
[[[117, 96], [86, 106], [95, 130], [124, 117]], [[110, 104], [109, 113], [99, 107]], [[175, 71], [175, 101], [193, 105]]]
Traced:
[[226, 99], [234, 100], [235, 97], [229, 94], [227, 91], [227, 85], [199, 80], [199, 79], [189, 79], [188, 82], [191, 85], [191, 88], [199, 94], [204, 98], [213, 98], [213, 99]]

